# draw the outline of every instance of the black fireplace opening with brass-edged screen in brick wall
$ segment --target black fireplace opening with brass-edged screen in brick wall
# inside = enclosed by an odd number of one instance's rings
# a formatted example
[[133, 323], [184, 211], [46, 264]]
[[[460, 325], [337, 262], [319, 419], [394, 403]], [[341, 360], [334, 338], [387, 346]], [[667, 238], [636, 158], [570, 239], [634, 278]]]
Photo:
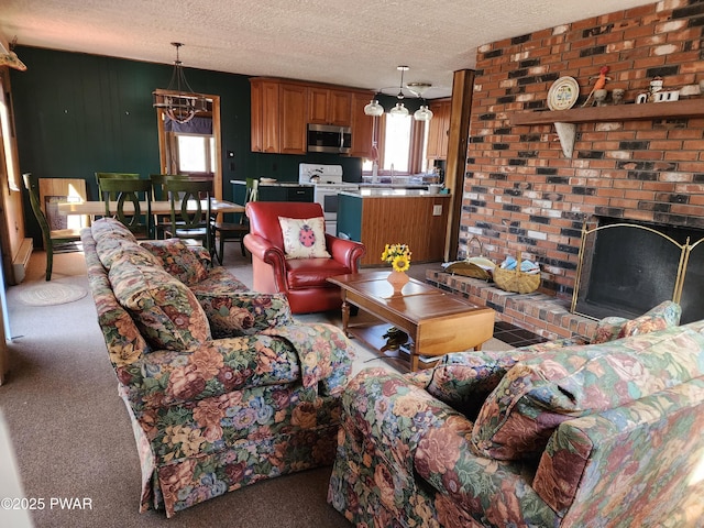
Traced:
[[704, 319], [703, 239], [702, 230], [600, 218], [583, 235], [572, 311], [632, 319], [675, 300], [682, 323]]

